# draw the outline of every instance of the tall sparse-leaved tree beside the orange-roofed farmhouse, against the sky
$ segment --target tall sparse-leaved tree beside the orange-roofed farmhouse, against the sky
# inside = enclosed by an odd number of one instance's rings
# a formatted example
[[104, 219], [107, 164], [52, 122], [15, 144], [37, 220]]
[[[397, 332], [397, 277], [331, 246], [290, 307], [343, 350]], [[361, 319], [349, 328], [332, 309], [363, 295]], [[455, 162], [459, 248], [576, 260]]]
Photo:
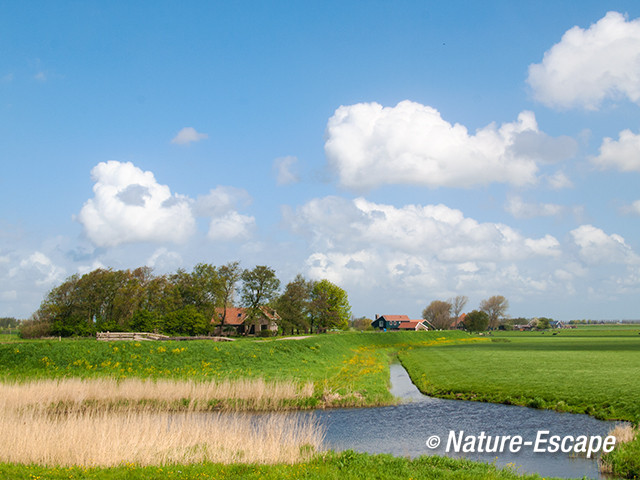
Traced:
[[256, 323], [263, 315], [262, 307], [274, 301], [280, 288], [276, 272], [264, 265], [253, 270], [244, 270], [242, 278], [242, 304], [248, 309], [247, 320]]

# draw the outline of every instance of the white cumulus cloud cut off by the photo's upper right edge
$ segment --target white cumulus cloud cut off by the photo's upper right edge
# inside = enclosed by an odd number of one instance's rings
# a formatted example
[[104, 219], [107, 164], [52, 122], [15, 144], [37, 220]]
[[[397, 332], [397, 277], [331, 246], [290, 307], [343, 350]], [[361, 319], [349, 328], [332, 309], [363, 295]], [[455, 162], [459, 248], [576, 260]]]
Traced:
[[527, 82], [549, 107], [596, 110], [605, 99], [640, 102], [640, 19], [609, 12], [587, 29], [575, 26], [529, 66]]

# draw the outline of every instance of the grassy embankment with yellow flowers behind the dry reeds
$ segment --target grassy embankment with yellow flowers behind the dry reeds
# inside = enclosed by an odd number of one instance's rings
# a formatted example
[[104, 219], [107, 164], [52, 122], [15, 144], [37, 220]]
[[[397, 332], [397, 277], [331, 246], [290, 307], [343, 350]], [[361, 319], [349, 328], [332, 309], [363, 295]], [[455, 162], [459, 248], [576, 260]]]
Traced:
[[[229, 343], [31, 341], [0, 345], [0, 380], [25, 384], [43, 379], [63, 383], [66, 378], [126, 379], [131, 383], [138, 379], [140, 388], [150, 391], [149, 382], [163, 379], [173, 383], [174, 390], [183, 391], [176, 393], [179, 401], [173, 402], [174, 407], [184, 404], [207, 410], [261, 407], [249, 401], [250, 393], [244, 398], [223, 394], [206, 401], [196, 399], [193, 405], [194, 384], [287, 381], [297, 385], [298, 391], [277, 405], [260, 389], [256, 391], [270, 402], [264, 409], [382, 405], [394, 401], [388, 391], [390, 355], [406, 348], [474, 341], [478, 340], [460, 332], [341, 334]], [[154, 398], [150, 395], [149, 400]], [[126, 399], [120, 396], [117, 401], [122, 404]], [[135, 397], [135, 401], [140, 399]]]

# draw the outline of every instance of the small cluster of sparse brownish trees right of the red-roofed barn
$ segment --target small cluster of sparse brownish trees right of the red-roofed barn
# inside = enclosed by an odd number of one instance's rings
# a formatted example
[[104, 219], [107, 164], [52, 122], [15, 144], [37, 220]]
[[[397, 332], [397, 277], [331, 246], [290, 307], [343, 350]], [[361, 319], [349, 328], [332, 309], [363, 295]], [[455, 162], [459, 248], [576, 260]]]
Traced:
[[[457, 328], [454, 322], [460, 318], [468, 302], [469, 298], [465, 295], [448, 300], [434, 300], [422, 311], [422, 318], [438, 330]], [[496, 329], [504, 321], [508, 309], [509, 301], [502, 295], [494, 295], [482, 300], [478, 309], [465, 315], [463, 327], [472, 332]]]

